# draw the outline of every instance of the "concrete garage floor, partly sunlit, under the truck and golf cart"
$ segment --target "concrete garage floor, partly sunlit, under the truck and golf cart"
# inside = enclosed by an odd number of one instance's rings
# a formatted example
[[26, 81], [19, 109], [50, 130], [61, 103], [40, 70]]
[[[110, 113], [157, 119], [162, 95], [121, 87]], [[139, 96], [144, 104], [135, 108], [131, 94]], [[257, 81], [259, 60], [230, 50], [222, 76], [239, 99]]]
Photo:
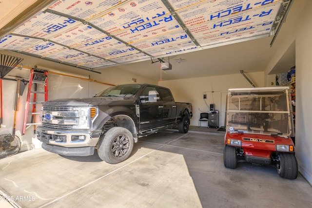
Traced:
[[[191, 127], [140, 138], [117, 165], [42, 149], [0, 159], [1, 208], [310, 208], [312, 187], [271, 166], [223, 165], [224, 132]], [[4, 198], [10, 198], [7, 202]]]

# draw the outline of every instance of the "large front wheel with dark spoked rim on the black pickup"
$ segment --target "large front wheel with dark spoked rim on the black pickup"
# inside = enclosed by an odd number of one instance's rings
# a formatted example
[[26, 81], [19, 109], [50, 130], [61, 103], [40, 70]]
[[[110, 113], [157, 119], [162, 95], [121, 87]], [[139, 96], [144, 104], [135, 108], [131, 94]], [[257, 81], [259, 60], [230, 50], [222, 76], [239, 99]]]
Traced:
[[110, 164], [125, 161], [134, 146], [132, 133], [122, 127], [113, 127], [104, 135], [98, 147], [99, 158]]

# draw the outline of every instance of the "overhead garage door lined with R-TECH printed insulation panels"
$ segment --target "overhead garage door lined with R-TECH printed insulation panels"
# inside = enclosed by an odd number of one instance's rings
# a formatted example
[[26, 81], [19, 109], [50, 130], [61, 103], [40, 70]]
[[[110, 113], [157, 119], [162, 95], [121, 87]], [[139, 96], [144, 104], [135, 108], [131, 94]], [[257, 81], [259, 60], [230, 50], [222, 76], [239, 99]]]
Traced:
[[57, 0], [0, 49], [97, 69], [268, 37], [285, 0]]

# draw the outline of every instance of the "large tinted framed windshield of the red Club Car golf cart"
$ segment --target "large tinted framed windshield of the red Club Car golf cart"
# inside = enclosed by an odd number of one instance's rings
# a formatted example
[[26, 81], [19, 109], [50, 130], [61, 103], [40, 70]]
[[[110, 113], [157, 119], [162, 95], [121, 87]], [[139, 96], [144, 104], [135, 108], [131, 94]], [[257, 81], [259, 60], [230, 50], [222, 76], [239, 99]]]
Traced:
[[288, 87], [229, 89], [227, 131], [291, 134]]

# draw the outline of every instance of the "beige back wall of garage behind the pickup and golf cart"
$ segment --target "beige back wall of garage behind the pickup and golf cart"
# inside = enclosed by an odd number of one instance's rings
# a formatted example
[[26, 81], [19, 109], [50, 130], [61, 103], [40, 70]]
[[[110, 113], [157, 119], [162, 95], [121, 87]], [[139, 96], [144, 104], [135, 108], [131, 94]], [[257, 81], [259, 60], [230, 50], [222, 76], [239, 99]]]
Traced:
[[[244, 74], [257, 87], [264, 87], [264, 72]], [[241, 74], [161, 81], [158, 85], [168, 87], [176, 102], [193, 104], [191, 126], [198, 126], [200, 113], [209, 112], [211, 103], [214, 103], [215, 110], [219, 111], [219, 126], [225, 126], [225, 102], [228, 89], [253, 87]], [[203, 94], [207, 95], [207, 99], [203, 99]], [[202, 122], [201, 126], [205, 125]]]

